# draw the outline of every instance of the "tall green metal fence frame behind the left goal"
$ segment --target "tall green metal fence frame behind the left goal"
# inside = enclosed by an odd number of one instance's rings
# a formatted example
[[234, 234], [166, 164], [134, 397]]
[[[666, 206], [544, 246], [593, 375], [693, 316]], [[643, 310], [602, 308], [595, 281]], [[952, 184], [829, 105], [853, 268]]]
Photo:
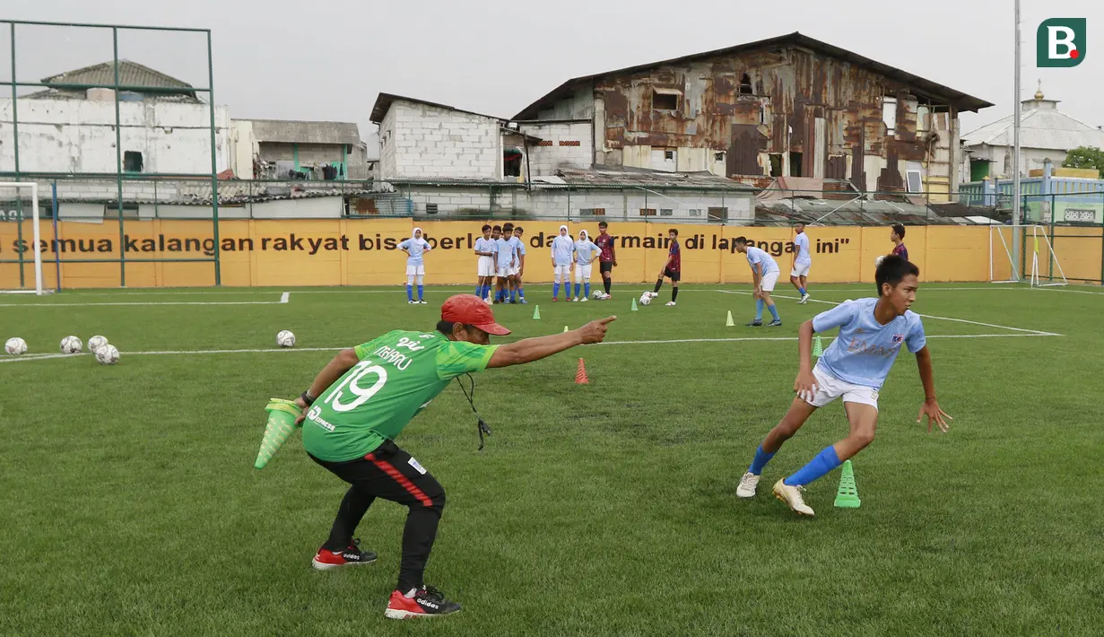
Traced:
[[[82, 23], [82, 22], [43, 22], [43, 21], [30, 21], [30, 20], [0, 20], [0, 24], [7, 24], [9, 33], [11, 35], [11, 78], [7, 82], [0, 82], [0, 86], [11, 87], [11, 99], [12, 99], [12, 134], [13, 134], [13, 146], [14, 146], [14, 158], [15, 158], [15, 171], [0, 172], [0, 176], [12, 177], [14, 181], [20, 182], [24, 179], [50, 179], [53, 178], [77, 178], [77, 179], [96, 179], [96, 178], [114, 178], [116, 181], [117, 191], [117, 203], [118, 203], [118, 222], [119, 222], [119, 257], [114, 259], [63, 259], [59, 262], [57, 267], [65, 263], [118, 263], [119, 264], [119, 287], [126, 287], [127, 285], [127, 262], [130, 263], [173, 263], [173, 262], [206, 262], [214, 264], [214, 285], [222, 285], [222, 269], [220, 264], [220, 242], [219, 242], [219, 152], [217, 152], [217, 127], [215, 123], [215, 100], [214, 100], [214, 54], [211, 43], [211, 30], [210, 29], [194, 29], [194, 28], [177, 28], [177, 26], [142, 26], [132, 24], [95, 24], [95, 23]], [[17, 26], [65, 26], [65, 28], [81, 28], [81, 29], [109, 29], [112, 31], [112, 49], [113, 49], [113, 64], [115, 71], [114, 82], [110, 84], [44, 84], [41, 82], [20, 82], [17, 76]], [[211, 171], [200, 172], [200, 173], [126, 173], [123, 170], [123, 144], [121, 144], [121, 116], [119, 107], [119, 92], [120, 91], [132, 91], [141, 93], [159, 93], [159, 92], [178, 92], [177, 88], [166, 88], [157, 86], [134, 86], [129, 84], [119, 83], [119, 31], [166, 31], [166, 32], [178, 32], [178, 33], [202, 33], [206, 36], [206, 55], [208, 55], [208, 85], [203, 88], [191, 88], [191, 92], [197, 94], [205, 93], [208, 96], [208, 106], [210, 107], [210, 132], [211, 132]], [[88, 88], [112, 88], [115, 92], [115, 172], [114, 173], [26, 173], [23, 172], [20, 167], [19, 161], [19, 88], [20, 87], [39, 87], [39, 88], [67, 88], [67, 89], [88, 89]], [[212, 233], [214, 238], [214, 255], [206, 258], [157, 258], [157, 259], [145, 259], [145, 258], [127, 258], [125, 251], [125, 221], [123, 216], [123, 182], [127, 179], [149, 179], [149, 178], [188, 178], [194, 179], [197, 177], [206, 177], [211, 179], [211, 224]], [[40, 198], [41, 199], [41, 198]], [[20, 210], [20, 222], [18, 235], [22, 240], [23, 224], [22, 224], [22, 200], [20, 199], [19, 204]], [[56, 227], [56, 226], [55, 226]], [[56, 230], [55, 236], [56, 240]], [[19, 263], [19, 284], [22, 287], [25, 285], [23, 268], [25, 264], [25, 258], [23, 253], [19, 254], [19, 259], [4, 259], [0, 263]], [[59, 275], [59, 280], [60, 280]]]

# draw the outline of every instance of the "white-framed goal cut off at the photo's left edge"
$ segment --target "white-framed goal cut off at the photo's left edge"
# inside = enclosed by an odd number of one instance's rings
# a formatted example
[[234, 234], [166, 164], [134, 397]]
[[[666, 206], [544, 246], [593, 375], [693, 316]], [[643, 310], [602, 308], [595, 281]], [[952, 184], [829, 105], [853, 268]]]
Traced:
[[42, 280], [39, 184], [0, 182], [0, 294], [49, 294]]

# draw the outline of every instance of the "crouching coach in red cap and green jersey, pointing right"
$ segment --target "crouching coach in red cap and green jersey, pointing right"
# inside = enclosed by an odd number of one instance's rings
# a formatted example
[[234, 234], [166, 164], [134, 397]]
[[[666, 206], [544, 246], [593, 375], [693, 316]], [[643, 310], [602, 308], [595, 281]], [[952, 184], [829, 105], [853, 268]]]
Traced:
[[530, 363], [575, 346], [598, 343], [616, 317], [580, 329], [490, 344], [510, 330], [495, 322], [475, 295], [456, 295], [440, 307], [436, 331], [394, 330], [342, 350], [297, 399], [308, 410], [302, 446], [312, 460], [349, 482], [330, 537], [315, 554], [315, 569], [370, 564], [353, 532], [376, 498], [407, 507], [399, 584], [384, 612], [392, 619], [448, 615], [460, 609], [423, 581], [445, 507], [445, 490], [394, 439], [411, 418], [460, 375]]

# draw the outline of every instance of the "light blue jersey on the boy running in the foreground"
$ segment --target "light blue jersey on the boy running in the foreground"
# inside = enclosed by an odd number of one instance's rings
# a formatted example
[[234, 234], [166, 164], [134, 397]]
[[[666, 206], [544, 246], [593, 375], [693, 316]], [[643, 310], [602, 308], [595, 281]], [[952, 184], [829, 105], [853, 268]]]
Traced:
[[825, 350], [817, 367], [837, 379], [881, 390], [901, 346], [916, 353], [927, 343], [920, 315], [912, 310], [888, 325], [874, 319], [877, 298], [847, 301], [813, 318], [813, 331], [839, 328], [839, 337]]

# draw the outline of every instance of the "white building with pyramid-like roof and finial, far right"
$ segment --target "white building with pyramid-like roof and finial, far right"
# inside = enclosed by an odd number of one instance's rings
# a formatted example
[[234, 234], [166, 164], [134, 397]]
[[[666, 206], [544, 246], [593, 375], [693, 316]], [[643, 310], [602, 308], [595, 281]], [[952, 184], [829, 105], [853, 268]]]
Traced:
[[[1066, 152], [1079, 146], [1104, 148], [1104, 130], [1060, 112], [1058, 102], [1047, 99], [1040, 89], [1033, 99], [1020, 103], [1020, 177], [1041, 170], [1047, 159], [1061, 166]], [[1013, 118], [1009, 115], [963, 136], [963, 182], [1012, 179]]]

